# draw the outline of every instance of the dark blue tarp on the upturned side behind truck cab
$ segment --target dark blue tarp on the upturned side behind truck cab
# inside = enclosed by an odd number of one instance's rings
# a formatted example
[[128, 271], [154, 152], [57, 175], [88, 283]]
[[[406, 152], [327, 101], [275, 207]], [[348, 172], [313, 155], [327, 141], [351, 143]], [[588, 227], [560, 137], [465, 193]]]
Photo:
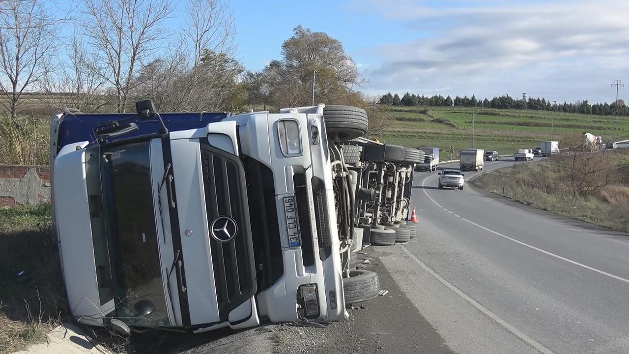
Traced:
[[[225, 112], [204, 112], [204, 113], [160, 113], [164, 125], [169, 131], [174, 132], [177, 130], [187, 130], [205, 127], [208, 123], [220, 122], [227, 118]], [[79, 141], [94, 142], [96, 135], [94, 135], [94, 128], [104, 123], [113, 122], [114, 120], [121, 120], [130, 118], [126, 122], [135, 122], [138, 125], [138, 130], [130, 132], [129, 134], [121, 135], [120, 137], [113, 137], [108, 139], [109, 142], [113, 142], [120, 139], [128, 139], [130, 137], [137, 137], [140, 135], [155, 134], [159, 132], [161, 125], [159, 120], [151, 119], [147, 121], [140, 121], [135, 113], [113, 113], [113, 114], [64, 114], [61, 117], [61, 124], [59, 126], [59, 134], [57, 138], [57, 152], [67, 144], [72, 144]]]

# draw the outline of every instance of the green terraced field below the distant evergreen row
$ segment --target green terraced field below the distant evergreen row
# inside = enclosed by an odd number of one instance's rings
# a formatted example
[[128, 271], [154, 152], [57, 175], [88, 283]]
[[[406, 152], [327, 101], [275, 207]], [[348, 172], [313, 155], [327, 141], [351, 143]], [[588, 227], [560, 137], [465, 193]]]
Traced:
[[543, 140], [560, 141], [565, 134], [589, 132], [601, 135], [604, 141], [629, 139], [629, 117], [533, 110], [404, 106], [391, 107], [389, 114], [393, 122], [379, 140], [409, 147], [437, 146], [442, 149], [442, 159], [447, 157], [450, 145], [456, 151], [474, 147], [511, 154], [517, 149], [537, 147]]

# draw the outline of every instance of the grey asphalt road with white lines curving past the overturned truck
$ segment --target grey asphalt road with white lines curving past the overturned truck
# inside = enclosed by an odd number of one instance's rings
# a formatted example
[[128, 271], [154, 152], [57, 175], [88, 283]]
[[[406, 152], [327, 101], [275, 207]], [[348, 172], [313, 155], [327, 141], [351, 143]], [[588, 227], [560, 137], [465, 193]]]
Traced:
[[415, 173], [411, 202], [418, 237], [382, 261], [452, 350], [629, 353], [629, 235], [438, 190], [437, 173]]

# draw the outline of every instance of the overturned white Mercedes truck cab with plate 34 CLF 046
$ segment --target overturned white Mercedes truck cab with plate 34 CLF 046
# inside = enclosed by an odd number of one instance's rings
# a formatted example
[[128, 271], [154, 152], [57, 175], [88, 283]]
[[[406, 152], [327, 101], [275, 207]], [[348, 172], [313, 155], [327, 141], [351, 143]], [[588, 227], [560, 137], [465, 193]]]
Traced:
[[136, 110], [53, 117], [53, 223], [80, 323], [128, 334], [328, 322], [347, 317], [343, 277], [379, 290], [342, 256], [353, 201], [330, 153], [364, 134], [363, 110]]

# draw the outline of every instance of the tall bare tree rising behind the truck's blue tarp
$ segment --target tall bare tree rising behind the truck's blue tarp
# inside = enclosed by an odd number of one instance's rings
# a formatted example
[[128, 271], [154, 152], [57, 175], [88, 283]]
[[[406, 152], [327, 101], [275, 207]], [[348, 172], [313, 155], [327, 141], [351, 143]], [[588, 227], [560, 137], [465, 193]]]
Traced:
[[160, 28], [170, 0], [86, 0], [82, 23], [99, 60], [90, 69], [113, 86], [116, 111], [124, 112], [138, 69], [165, 37]]

